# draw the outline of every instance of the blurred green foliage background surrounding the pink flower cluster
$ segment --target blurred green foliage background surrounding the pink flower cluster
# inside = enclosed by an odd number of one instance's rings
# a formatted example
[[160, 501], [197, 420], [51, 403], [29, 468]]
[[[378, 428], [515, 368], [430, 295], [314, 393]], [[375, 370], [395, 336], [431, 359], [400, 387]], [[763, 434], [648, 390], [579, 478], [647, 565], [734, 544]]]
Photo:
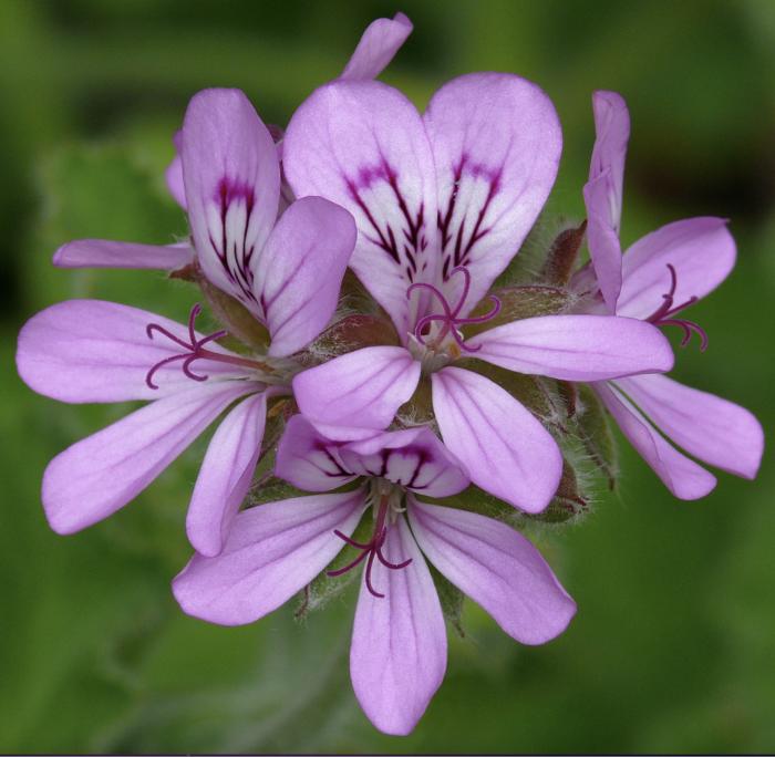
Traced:
[[41, 307], [99, 297], [184, 319], [195, 293], [154, 272], [55, 271], [79, 237], [185, 234], [162, 170], [187, 100], [244, 89], [266, 122], [344, 65], [368, 22], [415, 23], [384, 79], [418, 105], [472, 70], [517, 72], [552, 97], [565, 156], [548, 217], [582, 217], [590, 94], [631, 108], [627, 242], [691, 215], [731, 219], [738, 265], [693, 311], [705, 354], [675, 376], [772, 429], [775, 387], [775, 3], [0, 3], [0, 751], [772, 751], [775, 507], [720, 475], [673, 499], [622, 452], [622, 481], [539, 543], [579, 604], [551, 644], [513, 643], [467, 606], [443, 687], [412, 736], [376, 733], [348, 680], [352, 597], [306, 623], [185, 618], [169, 591], [204, 442], [108, 521], [62, 538], [39, 501], [56, 452], [125, 407], [59, 405], [13, 369]]

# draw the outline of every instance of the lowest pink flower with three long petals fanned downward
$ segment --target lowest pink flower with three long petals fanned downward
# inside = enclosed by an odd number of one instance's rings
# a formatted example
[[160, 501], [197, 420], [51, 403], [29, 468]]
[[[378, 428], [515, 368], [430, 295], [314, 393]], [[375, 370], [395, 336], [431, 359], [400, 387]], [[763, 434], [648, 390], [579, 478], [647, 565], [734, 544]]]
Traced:
[[[425, 558], [525, 644], [560, 634], [576, 604], [520, 533], [420, 499], [468, 485], [463, 466], [430, 429], [342, 434], [350, 435], [361, 438], [335, 442], [292, 417], [276, 473], [319, 494], [240, 512], [224, 551], [195, 556], [173, 590], [192, 615], [250, 623], [306, 587], [349, 545], [356, 557], [330, 574], [364, 566], [350, 651], [353, 688], [378, 728], [403, 735], [425, 712], [446, 668], [444, 618]], [[354, 489], [324, 494], [353, 481]], [[368, 509], [372, 532], [358, 541], [353, 532]]]

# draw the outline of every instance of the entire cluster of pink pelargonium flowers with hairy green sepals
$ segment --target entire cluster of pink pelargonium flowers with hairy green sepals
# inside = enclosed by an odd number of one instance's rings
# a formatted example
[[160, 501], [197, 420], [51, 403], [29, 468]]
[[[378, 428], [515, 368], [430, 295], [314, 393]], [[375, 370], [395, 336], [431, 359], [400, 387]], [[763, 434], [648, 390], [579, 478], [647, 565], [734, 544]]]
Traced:
[[560, 158], [555, 108], [524, 79], [476, 73], [418, 113], [375, 81], [411, 30], [402, 14], [374, 21], [285, 132], [239, 91], [198, 93], [166, 174], [188, 240], [78, 240], [54, 256], [166, 270], [199, 288], [217, 331], [197, 331], [198, 303], [176, 323], [73, 300], [34, 315], [17, 354], [55, 400], [148, 401], [48, 466], [59, 533], [124, 507], [221, 418], [177, 601], [250, 623], [360, 575], [352, 684], [389, 734], [412, 730], [444, 676], [440, 594], [467, 594], [524, 644], [567, 628], [576, 604], [519, 528], [583, 511], [579, 474], [614, 476], [606, 411], [682, 499], [715, 484], [692, 458], [753, 478], [763, 447], [747, 411], [664, 375], [664, 329], [707, 345], [683, 311], [728, 274], [735, 246], [722, 219], [693, 218], [622, 255], [622, 98], [593, 96], [587, 220], [519, 272]]

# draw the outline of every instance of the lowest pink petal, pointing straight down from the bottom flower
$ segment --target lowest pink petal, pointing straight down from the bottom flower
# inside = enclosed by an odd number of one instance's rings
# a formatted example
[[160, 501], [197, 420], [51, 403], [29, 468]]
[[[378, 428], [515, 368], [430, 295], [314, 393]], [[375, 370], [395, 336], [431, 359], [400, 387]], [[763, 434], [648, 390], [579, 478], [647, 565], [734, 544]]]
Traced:
[[385, 734], [404, 736], [422, 717], [444, 680], [446, 629], [431, 572], [399, 518], [383, 547], [401, 570], [374, 562], [372, 583], [361, 584], [350, 647], [352, 687], [366, 717]]

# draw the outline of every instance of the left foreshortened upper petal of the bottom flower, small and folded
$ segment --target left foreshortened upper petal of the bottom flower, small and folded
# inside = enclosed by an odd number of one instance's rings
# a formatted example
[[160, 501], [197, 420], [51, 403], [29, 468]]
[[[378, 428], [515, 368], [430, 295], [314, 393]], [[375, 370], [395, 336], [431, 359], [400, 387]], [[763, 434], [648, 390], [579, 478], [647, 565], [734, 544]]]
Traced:
[[277, 448], [275, 475], [304, 491], [337, 489], [355, 478], [342, 463], [341, 446], [341, 442], [321, 434], [307, 418], [294, 415]]

